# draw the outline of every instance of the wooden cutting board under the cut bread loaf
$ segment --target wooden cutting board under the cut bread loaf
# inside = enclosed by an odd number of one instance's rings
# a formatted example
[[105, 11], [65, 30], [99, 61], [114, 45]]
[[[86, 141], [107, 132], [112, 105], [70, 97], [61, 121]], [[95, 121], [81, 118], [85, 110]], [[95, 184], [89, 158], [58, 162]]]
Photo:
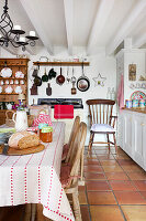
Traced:
[[[3, 154], [3, 148], [4, 148], [4, 145], [0, 145], [0, 155]], [[40, 144], [36, 147], [30, 147], [30, 148], [26, 148], [26, 149], [14, 149], [14, 148], [9, 147], [8, 150], [4, 151], [4, 155], [12, 155], [12, 156], [30, 155], [30, 154], [34, 154], [34, 152], [40, 152], [43, 149], [45, 149], [45, 146], [42, 145], [42, 144]]]

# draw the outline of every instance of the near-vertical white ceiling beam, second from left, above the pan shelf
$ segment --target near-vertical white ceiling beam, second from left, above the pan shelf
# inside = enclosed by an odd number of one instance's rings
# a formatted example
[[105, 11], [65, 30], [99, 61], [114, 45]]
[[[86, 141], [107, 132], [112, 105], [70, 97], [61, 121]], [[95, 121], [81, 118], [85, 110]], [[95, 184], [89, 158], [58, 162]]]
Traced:
[[68, 53], [72, 55], [74, 0], [64, 0]]

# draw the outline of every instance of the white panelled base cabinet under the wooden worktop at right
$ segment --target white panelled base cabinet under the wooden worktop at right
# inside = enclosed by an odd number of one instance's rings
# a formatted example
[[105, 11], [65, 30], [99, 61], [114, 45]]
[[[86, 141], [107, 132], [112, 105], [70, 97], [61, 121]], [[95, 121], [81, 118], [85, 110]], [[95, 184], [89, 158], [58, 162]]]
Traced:
[[123, 110], [122, 149], [146, 170], [146, 114]]

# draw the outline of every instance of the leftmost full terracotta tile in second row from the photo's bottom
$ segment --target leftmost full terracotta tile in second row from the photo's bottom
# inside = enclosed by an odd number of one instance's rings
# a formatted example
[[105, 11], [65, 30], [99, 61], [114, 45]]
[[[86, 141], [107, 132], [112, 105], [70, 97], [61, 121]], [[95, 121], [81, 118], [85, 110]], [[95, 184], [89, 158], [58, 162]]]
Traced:
[[112, 192], [88, 192], [89, 204], [116, 204]]

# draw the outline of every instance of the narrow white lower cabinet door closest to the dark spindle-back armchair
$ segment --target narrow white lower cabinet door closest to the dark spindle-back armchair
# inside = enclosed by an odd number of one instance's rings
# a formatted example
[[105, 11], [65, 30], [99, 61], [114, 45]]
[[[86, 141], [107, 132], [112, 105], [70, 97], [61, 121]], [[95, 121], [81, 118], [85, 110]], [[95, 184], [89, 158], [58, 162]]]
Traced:
[[131, 157], [133, 155], [132, 140], [133, 140], [133, 126], [132, 126], [132, 113], [123, 114], [123, 149]]

